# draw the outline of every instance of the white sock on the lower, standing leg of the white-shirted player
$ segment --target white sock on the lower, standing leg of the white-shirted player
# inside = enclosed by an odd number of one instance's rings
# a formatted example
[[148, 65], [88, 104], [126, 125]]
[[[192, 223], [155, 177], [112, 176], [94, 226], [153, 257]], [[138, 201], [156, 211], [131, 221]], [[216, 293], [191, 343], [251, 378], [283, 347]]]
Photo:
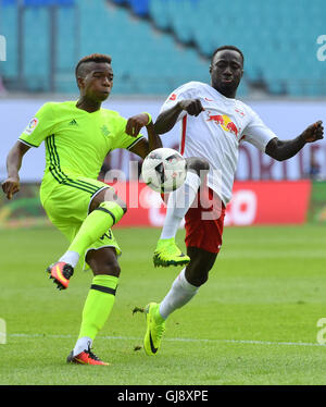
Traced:
[[166, 319], [177, 308], [186, 305], [198, 292], [199, 287], [188, 283], [185, 276], [186, 269], [173, 282], [170, 292], [160, 304], [160, 314]]

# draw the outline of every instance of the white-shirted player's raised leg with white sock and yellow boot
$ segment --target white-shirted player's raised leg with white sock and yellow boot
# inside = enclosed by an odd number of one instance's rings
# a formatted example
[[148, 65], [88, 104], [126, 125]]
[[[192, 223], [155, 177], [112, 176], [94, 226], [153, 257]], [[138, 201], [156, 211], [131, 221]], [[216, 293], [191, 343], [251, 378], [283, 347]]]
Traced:
[[186, 266], [189, 263], [189, 256], [184, 255], [177, 247], [175, 236], [208, 171], [209, 163], [205, 160], [196, 157], [187, 158], [185, 183], [168, 197], [164, 225], [153, 256], [155, 267]]

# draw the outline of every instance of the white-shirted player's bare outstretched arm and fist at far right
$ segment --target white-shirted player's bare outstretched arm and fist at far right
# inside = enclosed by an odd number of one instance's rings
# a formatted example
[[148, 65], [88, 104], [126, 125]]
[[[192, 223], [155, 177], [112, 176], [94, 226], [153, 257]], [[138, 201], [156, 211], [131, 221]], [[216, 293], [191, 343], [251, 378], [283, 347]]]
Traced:
[[300, 136], [291, 140], [279, 140], [277, 137], [272, 138], [267, 144], [265, 152], [278, 161], [288, 160], [296, 156], [306, 143], [314, 143], [324, 138], [323, 122], [319, 120], [311, 124], [303, 131]]

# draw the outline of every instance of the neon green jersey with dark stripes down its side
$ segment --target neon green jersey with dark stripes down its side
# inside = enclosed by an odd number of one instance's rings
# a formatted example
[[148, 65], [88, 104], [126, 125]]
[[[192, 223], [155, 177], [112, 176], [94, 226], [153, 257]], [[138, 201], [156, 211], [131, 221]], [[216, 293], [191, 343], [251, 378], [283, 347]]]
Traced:
[[46, 170], [41, 200], [67, 176], [97, 178], [105, 156], [130, 149], [142, 138], [125, 133], [127, 120], [117, 112], [100, 109], [88, 113], [76, 101], [45, 103], [29, 122], [20, 140], [39, 147], [45, 140]]

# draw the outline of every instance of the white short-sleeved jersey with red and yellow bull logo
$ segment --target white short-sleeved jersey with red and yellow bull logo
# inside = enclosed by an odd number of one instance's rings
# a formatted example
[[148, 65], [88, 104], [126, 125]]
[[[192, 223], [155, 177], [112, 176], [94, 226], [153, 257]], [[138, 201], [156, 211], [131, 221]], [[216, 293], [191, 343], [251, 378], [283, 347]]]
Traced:
[[186, 111], [180, 113], [180, 153], [209, 161], [208, 186], [226, 205], [231, 198], [240, 143], [249, 141], [264, 152], [276, 135], [249, 106], [201, 82], [189, 82], [174, 90], [160, 113], [184, 99], [200, 99], [204, 111], [197, 118]]

